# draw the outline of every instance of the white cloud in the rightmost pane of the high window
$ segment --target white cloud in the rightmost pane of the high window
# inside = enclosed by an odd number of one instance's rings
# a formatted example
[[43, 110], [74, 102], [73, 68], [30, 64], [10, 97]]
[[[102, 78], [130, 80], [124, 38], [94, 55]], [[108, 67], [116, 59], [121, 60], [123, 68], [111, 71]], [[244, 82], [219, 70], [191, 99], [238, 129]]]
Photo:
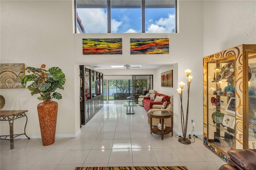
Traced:
[[[151, 22], [150, 19], [148, 22]], [[169, 14], [168, 18], [160, 18], [155, 24], [151, 24], [146, 32], [150, 33], [160, 33], [160, 32], [172, 32], [175, 25], [175, 15]]]

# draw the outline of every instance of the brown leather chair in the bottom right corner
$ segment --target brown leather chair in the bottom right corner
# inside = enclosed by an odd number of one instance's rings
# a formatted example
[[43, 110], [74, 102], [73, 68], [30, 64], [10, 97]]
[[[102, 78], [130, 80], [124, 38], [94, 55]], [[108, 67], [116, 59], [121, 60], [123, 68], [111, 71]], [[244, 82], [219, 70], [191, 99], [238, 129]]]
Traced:
[[256, 149], [229, 150], [228, 156], [228, 164], [219, 170], [256, 170]]

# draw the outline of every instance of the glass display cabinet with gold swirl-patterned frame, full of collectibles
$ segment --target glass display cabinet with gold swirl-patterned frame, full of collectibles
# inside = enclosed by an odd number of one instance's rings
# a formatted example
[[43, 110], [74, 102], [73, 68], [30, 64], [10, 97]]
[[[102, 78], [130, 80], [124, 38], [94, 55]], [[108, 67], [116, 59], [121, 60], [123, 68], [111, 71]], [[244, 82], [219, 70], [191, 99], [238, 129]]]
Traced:
[[[224, 160], [256, 148], [256, 44], [203, 58], [204, 144]], [[254, 145], [255, 144], [255, 145]]]

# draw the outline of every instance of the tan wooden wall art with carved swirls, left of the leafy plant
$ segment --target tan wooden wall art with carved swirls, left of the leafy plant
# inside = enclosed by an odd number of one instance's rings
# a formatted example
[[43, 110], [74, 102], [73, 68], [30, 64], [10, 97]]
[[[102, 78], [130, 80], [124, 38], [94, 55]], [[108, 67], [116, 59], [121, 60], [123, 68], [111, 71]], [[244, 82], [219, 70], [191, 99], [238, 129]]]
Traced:
[[21, 85], [21, 77], [25, 76], [25, 64], [0, 64], [0, 89], [24, 88]]

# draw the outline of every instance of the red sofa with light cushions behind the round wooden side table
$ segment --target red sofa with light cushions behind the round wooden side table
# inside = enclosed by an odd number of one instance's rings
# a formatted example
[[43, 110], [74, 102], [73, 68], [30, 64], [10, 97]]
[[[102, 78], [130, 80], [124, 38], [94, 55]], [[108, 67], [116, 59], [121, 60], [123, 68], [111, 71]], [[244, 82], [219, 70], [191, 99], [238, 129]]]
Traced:
[[148, 112], [150, 109], [152, 109], [153, 105], [162, 105], [165, 101], [167, 101], [167, 105], [170, 104], [170, 96], [168, 95], [164, 95], [161, 93], [155, 93], [155, 98], [156, 96], [164, 96], [162, 101], [154, 101], [154, 100], [150, 100], [150, 97], [144, 97], [143, 99], [143, 106], [145, 108], [145, 110]]

